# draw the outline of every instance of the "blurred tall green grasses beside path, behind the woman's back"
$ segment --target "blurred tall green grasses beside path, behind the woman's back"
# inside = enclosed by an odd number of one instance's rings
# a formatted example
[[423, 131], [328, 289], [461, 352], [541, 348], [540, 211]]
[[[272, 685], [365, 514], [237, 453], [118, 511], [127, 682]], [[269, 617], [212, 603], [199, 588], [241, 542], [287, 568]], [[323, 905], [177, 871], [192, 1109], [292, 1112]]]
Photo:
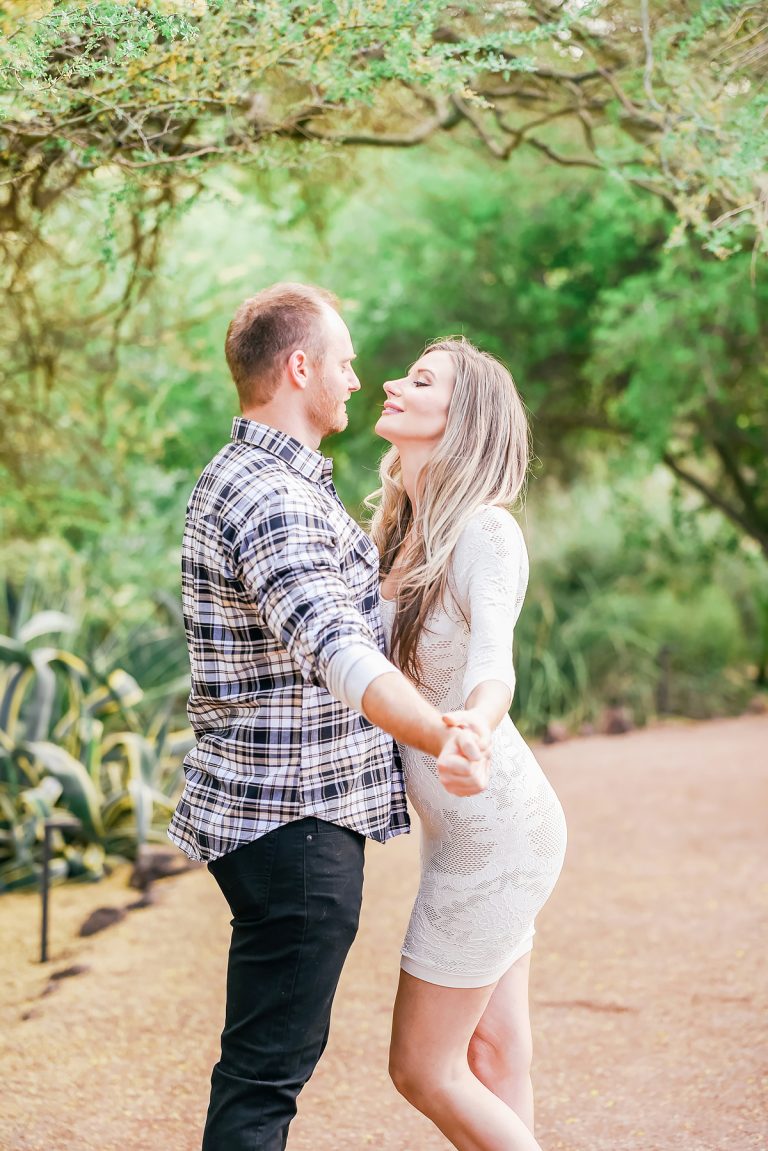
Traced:
[[663, 474], [606, 479], [531, 502], [516, 721], [539, 733], [553, 717], [594, 723], [607, 706], [640, 723], [738, 711], [765, 670], [765, 561]]

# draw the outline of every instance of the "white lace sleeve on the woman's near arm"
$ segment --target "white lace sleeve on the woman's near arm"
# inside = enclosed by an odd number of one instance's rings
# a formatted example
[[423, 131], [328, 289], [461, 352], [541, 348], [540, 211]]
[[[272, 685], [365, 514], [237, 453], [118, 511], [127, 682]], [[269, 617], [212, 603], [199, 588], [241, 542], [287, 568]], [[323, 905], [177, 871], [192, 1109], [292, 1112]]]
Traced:
[[462, 695], [497, 679], [515, 694], [512, 633], [529, 577], [523, 533], [503, 508], [484, 508], [462, 532], [454, 554], [458, 602], [470, 625]]

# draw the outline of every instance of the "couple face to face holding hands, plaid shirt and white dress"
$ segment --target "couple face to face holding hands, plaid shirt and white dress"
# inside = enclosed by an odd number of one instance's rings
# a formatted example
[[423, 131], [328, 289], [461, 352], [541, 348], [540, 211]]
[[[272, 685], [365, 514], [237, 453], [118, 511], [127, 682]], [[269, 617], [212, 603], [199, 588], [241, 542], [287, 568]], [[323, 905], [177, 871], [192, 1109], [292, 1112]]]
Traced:
[[360, 387], [336, 298], [258, 292], [226, 355], [242, 416], [188, 506], [197, 744], [169, 829], [233, 915], [203, 1149], [286, 1148], [357, 931], [365, 841], [409, 830], [408, 790], [421, 876], [390, 1075], [461, 1151], [535, 1151], [529, 966], [565, 826], [508, 716], [523, 403], [466, 340], [429, 344], [385, 383], [367, 535], [319, 451]]

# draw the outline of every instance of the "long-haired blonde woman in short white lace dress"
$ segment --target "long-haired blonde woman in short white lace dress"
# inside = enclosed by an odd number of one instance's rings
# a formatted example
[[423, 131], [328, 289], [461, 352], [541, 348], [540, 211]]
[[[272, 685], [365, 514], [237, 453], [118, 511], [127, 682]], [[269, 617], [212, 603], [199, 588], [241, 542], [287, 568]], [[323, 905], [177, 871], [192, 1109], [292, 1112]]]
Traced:
[[[385, 384], [391, 448], [372, 506], [390, 657], [446, 722], [493, 730], [489, 782], [449, 794], [402, 747], [421, 821], [421, 881], [403, 944], [390, 1074], [459, 1151], [534, 1151], [527, 1005], [533, 921], [565, 849], [563, 813], [508, 716], [527, 582], [517, 523], [529, 463], [509, 372], [438, 341]], [[486, 729], [487, 730], [487, 729]]]

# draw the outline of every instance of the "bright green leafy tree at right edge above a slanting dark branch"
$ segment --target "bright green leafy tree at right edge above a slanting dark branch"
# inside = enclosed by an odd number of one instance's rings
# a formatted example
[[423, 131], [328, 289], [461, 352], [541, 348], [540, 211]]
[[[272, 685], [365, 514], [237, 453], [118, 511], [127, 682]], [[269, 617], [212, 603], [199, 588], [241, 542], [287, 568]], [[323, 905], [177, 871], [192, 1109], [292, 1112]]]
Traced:
[[689, 247], [603, 291], [584, 374], [629, 433], [768, 555], [768, 281]]

